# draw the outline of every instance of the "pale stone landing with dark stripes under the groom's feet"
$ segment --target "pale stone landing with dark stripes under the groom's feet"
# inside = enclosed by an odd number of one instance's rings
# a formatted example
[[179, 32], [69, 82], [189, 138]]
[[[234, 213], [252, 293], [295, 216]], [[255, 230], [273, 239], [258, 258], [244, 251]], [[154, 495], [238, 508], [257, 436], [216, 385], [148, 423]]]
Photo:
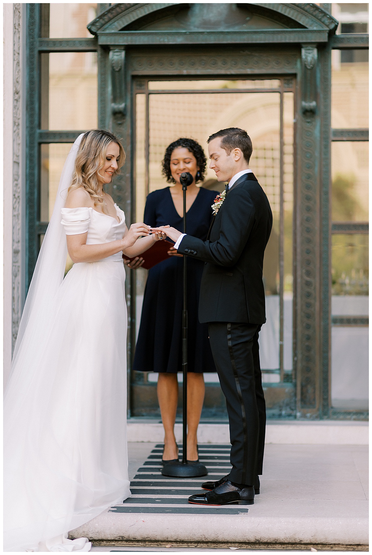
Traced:
[[[199, 446], [200, 460], [211, 480], [229, 472], [229, 448], [227, 443]], [[94, 546], [125, 549], [366, 550], [365, 446], [267, 445], [261, 493], [249, 507], [190, 505], [188, 496], [200, 491], [205, 478], [163, 477], [161, 453], [159, 444], [129, 443], [132, 497], [74, 530], [70, 537], [86, 536]]]

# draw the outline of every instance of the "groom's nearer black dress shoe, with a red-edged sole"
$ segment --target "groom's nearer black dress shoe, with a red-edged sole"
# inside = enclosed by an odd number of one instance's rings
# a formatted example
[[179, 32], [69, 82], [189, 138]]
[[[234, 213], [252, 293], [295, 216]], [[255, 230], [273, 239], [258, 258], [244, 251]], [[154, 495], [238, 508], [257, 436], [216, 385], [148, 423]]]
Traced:
[[189, 503], [194, 503], [195, 505], [227, 505], [229, 503], [253, 505], [254, 487], [239, 488], [234, 486], [229, 480], [225, 480], [212, 491], [192, 495], [189, 497]]

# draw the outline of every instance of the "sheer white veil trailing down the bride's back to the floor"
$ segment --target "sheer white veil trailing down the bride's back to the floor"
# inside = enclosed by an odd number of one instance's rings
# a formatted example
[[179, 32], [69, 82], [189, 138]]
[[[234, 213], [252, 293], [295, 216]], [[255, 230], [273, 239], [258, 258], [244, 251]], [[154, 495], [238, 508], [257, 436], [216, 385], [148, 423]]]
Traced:
[[[66, 523], [66, 518], [62, 523], [62, 513], [59, 519], [58, 514], [50, 515], [51, 520], [54, 519], [51, 526], [46, 518], [43, 526], [27, 527], [27, 519], [22, 517], [23, 514], [33, 513], [34, 500], [42, 499], [44, 493], [36, 488], [34, 472], [27, 472], [27, 468], [36, 468], [36, 475], [42, 471], [41, 468], [39, 470], [35, 453], [39, 448], [39, 436], [43, 433], [40, 427], [45, 417], [43, 410], [45, 399], [50, 396], [51, 384], [41, 362], [48, 345], [48, 332], [56, 315], [55, 297], [63, 281], [66, 265], [67, 243], [61, 225], [61, 209], [66, 203], [82, 137], [83, 134], [76, 139], [64, 164], [52, 218], [24, 306], [11, 375], [4, 395], [4, 549], [7, 551], [18, 551], [19, 546], [22, 546], [23, 551], [37, 551], [37, 538], [43, 537], [43, 534], [50, 534], [45, 539], [58, 535], [60, 545], [56, 546], [54, 542], [54, 547], [45, 545], [42, 551], [89, 551], [91, 547], [86, 538], [71, 542], [65, 535], [61, 536], [61, 524], [63, 528]], [[31, 392], [34, 397], [29, 400]], [[35, 411], [33, 407], [37, 407]], [[38, 504], [40, 511], [48, 515], [50, 507], [42, 506], [39, 501]], [[36, 545], [30, 546], [33, 539]]]

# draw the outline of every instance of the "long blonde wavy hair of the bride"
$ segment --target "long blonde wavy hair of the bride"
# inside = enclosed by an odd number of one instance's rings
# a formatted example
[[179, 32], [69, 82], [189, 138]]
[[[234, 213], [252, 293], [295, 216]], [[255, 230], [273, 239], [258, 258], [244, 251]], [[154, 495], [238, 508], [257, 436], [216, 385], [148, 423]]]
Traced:
[[105, 164], [105, 155], [110, 143], [116, 143], [119, 147], [118, 169], [114, 175], [120, 173], [120, 168], [125, 162], [125, 152], [119, 139], [113, 133], [103, 129], [92, 129], [84, 134], [75, 160], [75, 167], [72, 174], [72, 183], [68, 188], [68, 193], [79, 187], [83, 187], [91, 195], [94, 205], [102, 204], [104, 211], [104, 200], [99, 196], [100, 186], [97, 173], [102, 170]]

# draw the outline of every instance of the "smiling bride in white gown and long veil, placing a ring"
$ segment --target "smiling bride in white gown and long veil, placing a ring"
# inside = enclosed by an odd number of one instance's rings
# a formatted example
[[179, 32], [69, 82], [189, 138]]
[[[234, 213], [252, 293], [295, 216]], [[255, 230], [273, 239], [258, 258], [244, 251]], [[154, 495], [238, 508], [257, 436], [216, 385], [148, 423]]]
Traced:
[[68, 531], [130, 496], [122, 253], [164, 234], [128, 230], [104, 192], [124, 160], [113, 134], [91, 130], [63, 168], [4, 397], [4, 551], [89, 551]]

